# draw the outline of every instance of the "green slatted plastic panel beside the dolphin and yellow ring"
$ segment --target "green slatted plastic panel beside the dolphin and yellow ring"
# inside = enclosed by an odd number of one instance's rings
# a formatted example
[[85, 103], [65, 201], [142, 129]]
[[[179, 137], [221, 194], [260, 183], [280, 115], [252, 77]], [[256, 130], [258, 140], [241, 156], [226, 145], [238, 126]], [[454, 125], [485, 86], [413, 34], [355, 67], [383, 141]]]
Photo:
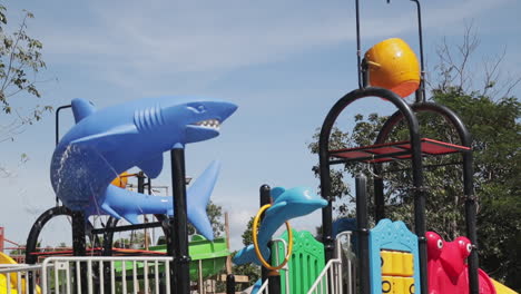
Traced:
[[[287, 232], [279, 237], [287, 242]], [[284, 261], [285, 248], [283, 243], [276, 242], [272, 246], [272, 264], [281, 264]], [[289, 266], [289, 293], [286, 293], [285, 271], [281, 271], [281, 293], [302, 294], [306, 293], [321, 274], [325, 266], [324, 245], [316, 241], [307, 231], [296, 232], [293, 229], [293, 253], [288, 262]]]

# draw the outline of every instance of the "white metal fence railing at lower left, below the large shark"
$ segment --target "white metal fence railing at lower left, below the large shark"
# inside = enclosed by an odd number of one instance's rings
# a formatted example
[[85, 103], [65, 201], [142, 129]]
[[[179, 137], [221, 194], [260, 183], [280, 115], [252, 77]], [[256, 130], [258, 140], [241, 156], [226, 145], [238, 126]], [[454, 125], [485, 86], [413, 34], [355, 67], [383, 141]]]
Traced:
[[[170, 293], [170, 275], [165, 273], [170, 272], [171, 259], [169, 256], [49, 257], [41, 265], [0, 267], [0, 292], [7, 294]], [[2, 283], [3, 281], [6, 283]], [[28, 292], [31, 288], [32, 292]]]

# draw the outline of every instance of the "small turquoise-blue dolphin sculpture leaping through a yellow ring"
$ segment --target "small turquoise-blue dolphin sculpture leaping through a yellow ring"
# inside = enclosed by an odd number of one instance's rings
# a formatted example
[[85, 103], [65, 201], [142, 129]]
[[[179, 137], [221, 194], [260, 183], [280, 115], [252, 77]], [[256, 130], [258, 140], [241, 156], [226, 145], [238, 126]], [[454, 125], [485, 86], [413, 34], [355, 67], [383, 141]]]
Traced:
[[[265, 259], [269, 257], [268, 242], [272, 239], [273, 234], [275, 234], [286, 220], [311, 214], [327, 205], [325, 199], [306, 187], [295, 187], [291, 189], [276, 187], [272, 189], [272, 207], [266, 209], [257, 235], [258, 246]], [[234, 263], [237, 265], [246, 263], [260, 265], [255, 254], [254, 245], [248, 245], [240, 249], [235, 255]]]

